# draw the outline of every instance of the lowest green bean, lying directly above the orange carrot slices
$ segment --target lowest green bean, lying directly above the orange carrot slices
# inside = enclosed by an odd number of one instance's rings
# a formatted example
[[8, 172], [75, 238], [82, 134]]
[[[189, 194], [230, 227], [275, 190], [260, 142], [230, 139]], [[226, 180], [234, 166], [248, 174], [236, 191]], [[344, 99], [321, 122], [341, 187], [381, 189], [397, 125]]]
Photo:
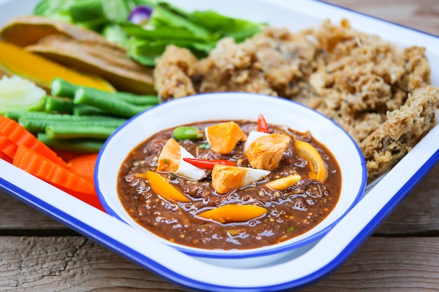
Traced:
[[76, 153], [97, 153], [105, 143], [105, 139], [50, 139], [46, 133], [37, 138], [52, 149]]

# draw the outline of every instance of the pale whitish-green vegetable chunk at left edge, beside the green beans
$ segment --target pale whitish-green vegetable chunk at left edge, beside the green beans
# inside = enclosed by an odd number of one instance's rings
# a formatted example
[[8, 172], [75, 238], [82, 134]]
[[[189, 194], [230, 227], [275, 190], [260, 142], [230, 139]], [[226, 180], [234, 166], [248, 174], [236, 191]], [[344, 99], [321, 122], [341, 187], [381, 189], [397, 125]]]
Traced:
[[0, 113], [4, 111], [43, 109], [46, 92], [34, 83], [19, 76], [0, 79]]

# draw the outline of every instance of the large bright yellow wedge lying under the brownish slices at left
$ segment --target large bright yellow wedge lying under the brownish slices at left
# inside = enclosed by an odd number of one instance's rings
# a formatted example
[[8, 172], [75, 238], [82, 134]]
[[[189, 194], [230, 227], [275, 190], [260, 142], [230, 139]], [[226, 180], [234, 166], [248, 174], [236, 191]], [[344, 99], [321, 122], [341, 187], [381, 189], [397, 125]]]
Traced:
[[53, 78], [60, 77], [74, 84], [114, 91], [112, 85], [98, 76], [79, 73], [4, 41], [0, 41], [0, 69], [25, 77], [46, 90]]

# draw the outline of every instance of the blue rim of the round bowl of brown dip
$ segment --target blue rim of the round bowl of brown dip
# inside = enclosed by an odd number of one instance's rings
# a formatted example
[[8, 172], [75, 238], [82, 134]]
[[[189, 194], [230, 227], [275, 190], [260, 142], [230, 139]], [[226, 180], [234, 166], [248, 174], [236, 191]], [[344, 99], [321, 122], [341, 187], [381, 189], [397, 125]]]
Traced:
[[[295, 249], [299, 249], [302, 246], [306, 246], [308, 244], [316, 242], [318, 239], [325, 236], [327, 234], [327, 232], [329, 232], [340, 220], [342, 220], [342, 218], [344, 216], [346, 216], [346, 214], [348, 214], [349, 211], [360, 201], [361, 197], [363, 197], [363, 194], [365, 193], [365, 188], [367, 185], [367, 169], [366, 169], [366, 163], [365, 163], [365, 159], [363, 157], [363, 153], [360, 151], [360, 147], [358, 146], [358, 144], [356, 144], [356, 141], [353, 140], [351, 135], [349, 135], [348, 132], [346, 132], [346, 130], [344, 130], [334, 120], [327, 118], [327, 116], [323, 115], [323, 113], [320, 113], [314, 109], [309, 108], [308, 106], [304, 106], [304, 104], [300, 104], [299, 102], [295, 102], [295, 101], [290, 100], [290, 99], [285, 99], [282, 97], [273, 97], [271, 95], [262, 95], [262, 94], [258, 94], [258, 93], [248, 93], [248, 92], [208, 92], [208, 93], [200, 93], [200, 94], [196, 94], [196, 95], [189, 95], [189, 96], [183, 97], [183, 98], [184, 99], [192, 99], [192, 98], [198, 98], [201, 95], [215, 96], [215, 95], [224, 95], [224, 94], [257, 95], [259, 97], [269, 97], [270, 99], [281, 99], [282, 101], [285, 101], [285, 102], [292, 102], [293, 104], [296, 104], [297, 106], [301, 106], [309, 111], [312, 111], [314, 114], [324, 118], [329, 123], [332, 123], [332, 125], [339, 128], [339, 130], [342, 130], [342, 132], [344, 132], [344, 134], [346, 134], [346, 137], [348, 137], [351, 140], [351, 143], [356, 148], [356, 151], [357, 151], [359, 158], [360, 158], [360, 161], [361, 161], [362, 178], [361, 178], [360, 187], [358, 188], [358, 193], [356, 194], [356, 197], [354, 198], [354, 200], [351, 202], [351, 205], [346, 209], [346, 211], [344, 211], [344, 213], [341, 216], [336, 218], [334, 221], [332, 221], [329, 225], [327, 225], [322, 230], [319, 230], [318, 232], [315, 232], [312, 235], [309, 235], [308, 237], [306, 237], [304, 239], [300, 239], [297, 242], [292, 242], [291, 244], [285, 244], [282, 246], [273, 245], [273, 248], [271, 248], [271, 249], [262, 249], [262, 250], [240, 249], [238, 251], [234, 251], [234, 250], [223, 251], [223, 250], [215, 250], [215, 249], [197, 249], [197, 248], [191, 248], [190, 246], [177, 245], [177, 244], [168, 244], [168, 245], [172, 246], [173, 248], [175, 248], [179, 251], [182, 251], [183, 253], [187, 254], [188, 256], [197, 256], [197, 257], [201, 257], [201, 258], [212, 258], [212, 259], [215, 259], [215, 258], [244, 259], [244, 258], [254, 258], [254, 257], [261, 257], [261, 256], [272, 256], [272, 255], [275, 255], [278, 253], [283, 253], [283, 252], [287, 252], [287, 251], [294, 251]], [[121, 216], [119, 216], [119, 214], [117, 214], [117, 212], [114, 211], [112, 209], [112, 207], [109, 206], [109, 204], [107, 203], [107, 200], [105, 200], [104, 194], [102, 193], [102, 191], [100, 189], [100, 184], [99, 184], [99, 181], [97, 180], [97, 174], [99, 173], [99, 169], [100, 169], [100, 160], [102, 157], [102, 153], [104, 153], [105, 148], [107, 147], [107, 144], [110, 143], [112, 138], [116, 134], [118, 134], [121, 130], [123, 130], [123, 128], [126, 127], [126, 125], [131, 123], [133, 120], [137, 119], [139, 116], [142, 116], [143, 114], [147, 113], [148, 111], [154, 111], [158, 106], [165, 106], [166, 104], [169, 104], [171, 102], [178, 102], [179, 100], [180, 99], [171, 99], [171, 100], [168, 100], [166, 102], [162, 102], [161, 104], [158, 104], [158, 105], [152, 107], [151, 109], [147, 109], [147, 110], [143, 111], [142, 113], [138, 113], [136, 116], [133, 116], [133, 118], [130, 118], [129, 120], [127, 120], [126, 123], [123, 123], [123, 125], [121, 125], [121, 127], [119, 127], [107, 139], [107, 141], [105, 141], [104, 145], [101, 148], [101, 151], [99, 152], [99, 155], [97, 156], [96, 168], [95, 168], [95, 173], [94, 173], [97, 197], [99, 198], [99, 200], [102, 204], [102, 207], [104, 207], [105, 211], [107, 211], [107, 214], [114, 216], [115, 218], [119, 219], [120, 221], [126, 223], [127, 225], [130, 225], [130, 224], [128, 222], [126, 222], [125, 220], [123, 220], [123, 218], [121, 218]], [[145, 137], [145, 139], [147, 139], [147, 137]], [[147, 229], [145, 229], [145, 230], [146, 230], [146, 232], [151, 232]], [[163, 241], [166, 242], [166, 239], [163, 239]]]

